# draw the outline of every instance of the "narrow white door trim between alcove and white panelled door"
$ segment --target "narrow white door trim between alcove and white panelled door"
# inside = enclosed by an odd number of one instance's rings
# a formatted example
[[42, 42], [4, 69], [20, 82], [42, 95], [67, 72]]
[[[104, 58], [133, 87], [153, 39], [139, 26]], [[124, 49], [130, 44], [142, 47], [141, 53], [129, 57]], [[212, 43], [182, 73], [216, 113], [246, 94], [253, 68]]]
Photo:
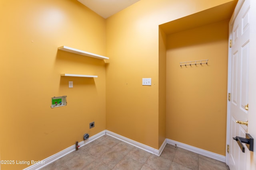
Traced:
[[[233, 15], [229, 21], [229, 41], [230, 39], [232, 39], [232, 26], [234, 24], [234, 21], [239, 13], [239, 11], [242, 8], [242, 5], [244, 4], [245, 0], [238, 0], [237, 4], [236, 4], [236, 8], [233, 12]], [[228, 41], [228, 93], [230, 93], [230, 84], [231, 84], [231, 48], [229, 47], [230, 42]], [[228, 94], [227, 94], [228, 95]], [[227, 97], [228, 99], [228, 97]], [[226, 129], [226, 164], [229, 165], [228, 162], [228, 148], [227, 146], [230, 145], [230, 101], [227, 100], [227, 129]]]

